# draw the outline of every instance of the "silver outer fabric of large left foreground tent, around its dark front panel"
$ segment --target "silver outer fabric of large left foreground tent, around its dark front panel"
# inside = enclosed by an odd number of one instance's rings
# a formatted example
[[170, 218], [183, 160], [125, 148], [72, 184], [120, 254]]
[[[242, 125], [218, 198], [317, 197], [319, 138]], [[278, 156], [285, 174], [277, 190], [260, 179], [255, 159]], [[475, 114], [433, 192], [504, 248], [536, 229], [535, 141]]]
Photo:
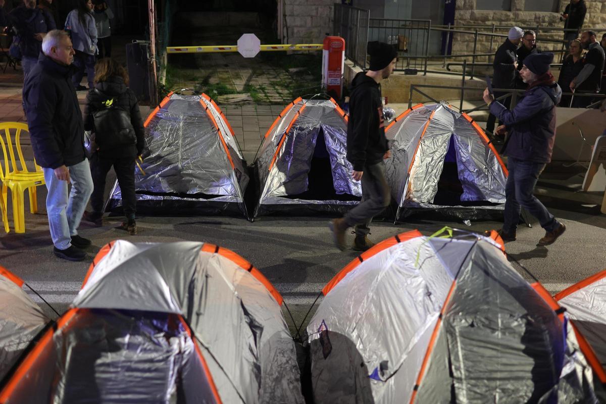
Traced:
[[73, 305], [182, 314], [222, 402], [302, 403], [295, 345], [278, 302], [248, 271], [202, 245], [119, 240]]

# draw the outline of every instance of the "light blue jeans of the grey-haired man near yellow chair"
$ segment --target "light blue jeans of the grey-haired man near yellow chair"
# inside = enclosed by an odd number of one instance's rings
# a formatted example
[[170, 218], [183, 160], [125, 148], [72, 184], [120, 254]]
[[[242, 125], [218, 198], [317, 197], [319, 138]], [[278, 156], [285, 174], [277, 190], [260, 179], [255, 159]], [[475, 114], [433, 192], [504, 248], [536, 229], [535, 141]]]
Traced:
[[72, 236], [78, 234], [76, 229], [80, 225], [88, 198], [93, 193], [93, 179], [87, 159], [67, 168], [70, 170], [72, 182], [69, 195], [67, 181], [58, 180], [52, 168], [42, 168], [48, 190], [46, 211], [50, 237], [59, 250], [65, 250], [72, 245]]

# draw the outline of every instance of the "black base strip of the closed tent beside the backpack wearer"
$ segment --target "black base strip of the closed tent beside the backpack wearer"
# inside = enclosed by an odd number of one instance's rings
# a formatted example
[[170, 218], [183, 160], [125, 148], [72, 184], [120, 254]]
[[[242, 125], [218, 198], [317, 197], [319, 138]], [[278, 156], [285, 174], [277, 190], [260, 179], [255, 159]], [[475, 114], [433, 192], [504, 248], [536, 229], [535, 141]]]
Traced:
[[[122, 201], [108, 202], [110, 216], [124, 214]], [[243, 203], [213, 200], [147, 199], [137, 201], [137, 214], [144, 216], [235, 216], [248, 219]]]

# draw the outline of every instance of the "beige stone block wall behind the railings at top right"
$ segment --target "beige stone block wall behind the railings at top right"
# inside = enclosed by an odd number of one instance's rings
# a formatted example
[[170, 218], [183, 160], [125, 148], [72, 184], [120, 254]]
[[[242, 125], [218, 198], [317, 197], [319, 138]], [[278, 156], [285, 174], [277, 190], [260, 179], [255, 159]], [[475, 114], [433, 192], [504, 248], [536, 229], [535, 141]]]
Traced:
[[[480, 31], [490, 32], [492, 25], [513, 27], [518, 25], [523, 28], [536, 30], [538, 27], [537, 45], [541, 50], [561, 50], [562, 43], [541, 42], [541, 38], [562, 40], [564, 33], [560, 30], [546, 31], [541, 27], [561, 27], [564, 28], [564, 22], [560, 21], [559, 13], [549, 12], [527, 12], [525, 2], [532, 0], [511, 0], [511, 11], [491, 11], [476, 10], [476, 0], [456, 0], [456, 12], [454, 14], [455, 25], [488, 25], [489, 30], [479, 28]], [[568, 0], [560, 0], [559, 10], [569, 3]], [[606, 0], [585, 0], [587, 4], [587, 15], [585, 16], [585, 28], [606, 27]], [[506, 35], [508, 28], [495, 29], [495, 33]], [[599, 32], [601, 34], [601, 32]], [[494, 37], [493, 45], [490, 46], [490, 36], [478, 36], [478, 46], [476, 53], [494, 53], [496, 48], [505, 41], [505, 37]], [[453, 55], [469, 54], [473, 51], [473, 34], [456, 33], [453, 36]], [[469, 62], [470, 58], [466, 58]], [[491, 59], [490, 59], [491, 60]], [[481, 58], [479, 61], [486, 62], [488, 58]]]

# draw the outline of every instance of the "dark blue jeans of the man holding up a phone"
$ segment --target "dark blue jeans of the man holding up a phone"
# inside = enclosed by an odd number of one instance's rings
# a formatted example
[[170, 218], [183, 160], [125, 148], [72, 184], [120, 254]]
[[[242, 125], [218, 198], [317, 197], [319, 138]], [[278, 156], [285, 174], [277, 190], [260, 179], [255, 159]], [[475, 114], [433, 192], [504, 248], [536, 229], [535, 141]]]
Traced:
[[553, 231], [559, 227], [558, 220], [533, 194], [534, 186], [544, 168], [544, 163], [527, 162], [512, 157], [507, 159], [509, 176], [505, 185], [505, 220], [503, 224], [503, 230], [506, 233], [515, 233], [521, 207], [539, 219], [541, 227], [546, 231]]

